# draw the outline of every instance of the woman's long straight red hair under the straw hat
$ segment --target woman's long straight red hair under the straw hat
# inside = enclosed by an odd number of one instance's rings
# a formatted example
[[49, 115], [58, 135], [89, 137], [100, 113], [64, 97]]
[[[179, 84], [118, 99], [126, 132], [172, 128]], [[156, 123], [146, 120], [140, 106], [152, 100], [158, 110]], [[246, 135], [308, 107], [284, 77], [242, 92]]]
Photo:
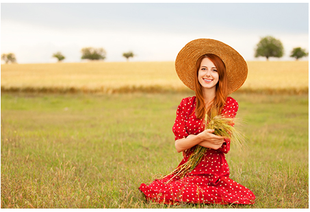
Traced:
[[[201, 67], [201, 61], [203, 58], [209, 58], [218, 71], [218, 84], [216, 84], [216, 97], [214, 97], [213, 101], [211, 102], [208, 108], [205, 108], [205, 100], [203, 99], [203, 89], [201, 84], [198, 81], [198, 71]], [[228, 96], [228, 86], [227, 86], [227, 74], [226, 74], [226, 67], [224, 62], [215, 54], [205, 54], [198, 58], [196, 62], [196, 78], [194, 78], [194, 86], [195, 86], [195, 93], [196, 93], [196, 117], [198, 119], [203, 119], [205, 114], [210, 117], [211, 109], [216, 110], [219, 114], [224, 107]]]

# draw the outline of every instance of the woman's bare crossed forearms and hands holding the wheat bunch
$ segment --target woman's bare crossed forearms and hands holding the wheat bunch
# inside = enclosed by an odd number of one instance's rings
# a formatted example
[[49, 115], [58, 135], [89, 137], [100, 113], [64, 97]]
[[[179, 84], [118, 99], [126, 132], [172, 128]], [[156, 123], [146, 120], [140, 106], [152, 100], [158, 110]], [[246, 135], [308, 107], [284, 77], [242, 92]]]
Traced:
[[190, 134], [188, 137], [178, 139], [175, 141], [175, 148], [177, 152], [183, 152], [192, 148], [194, 145], [202, 145], [205, 148], [217, 150], [224, 143], [224, 137], [213, 134], [214, 130], [204, 130], [203, 132], [195, 135]]

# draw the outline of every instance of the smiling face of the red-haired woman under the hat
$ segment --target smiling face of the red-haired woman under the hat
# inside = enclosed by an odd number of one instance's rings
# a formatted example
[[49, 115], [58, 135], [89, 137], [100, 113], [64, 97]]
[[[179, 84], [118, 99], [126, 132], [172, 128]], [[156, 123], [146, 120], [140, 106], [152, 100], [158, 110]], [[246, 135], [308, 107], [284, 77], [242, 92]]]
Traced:
[[198, 82], [203, 86], [203, 89], [216, 91], [218, 78], [218, 71], [214, 63], [209, 58], [203, 58], [198, 71]]

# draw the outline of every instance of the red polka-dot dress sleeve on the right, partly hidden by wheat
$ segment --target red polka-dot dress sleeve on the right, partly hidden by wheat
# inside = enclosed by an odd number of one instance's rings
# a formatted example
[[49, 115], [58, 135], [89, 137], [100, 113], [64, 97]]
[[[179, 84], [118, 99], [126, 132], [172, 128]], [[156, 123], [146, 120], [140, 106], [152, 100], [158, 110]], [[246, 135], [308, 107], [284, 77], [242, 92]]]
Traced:
[[[235, 99], [231, 97], [228, 97], [227, 102], [222, 110], [222, 115], [226, 115], [227, 117], [230, 117], [230, 118], [235, 118], [235, 115], [237, 115], [238, 108], [239, 108], [239, 105], [237, 101], [235, 101]], [[231, 149], [231, 140], [225, 139], [224, 141], [225, 142], [218, 150], [227, 154], [229, 150]]]

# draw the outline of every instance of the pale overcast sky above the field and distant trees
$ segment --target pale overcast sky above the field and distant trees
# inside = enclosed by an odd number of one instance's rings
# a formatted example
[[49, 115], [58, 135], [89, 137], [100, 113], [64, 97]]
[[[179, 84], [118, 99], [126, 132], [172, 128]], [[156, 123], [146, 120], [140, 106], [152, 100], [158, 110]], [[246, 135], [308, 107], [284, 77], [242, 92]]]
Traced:
[[[309, 3], [1, 3], [1, 54], [18, 63], [81, 62], [81, 48], [103, 47], [105, 61], [174, 61], [196, 38], [227, 43], [246, 60], [263, 36], [281, 40], [285, 56], [309, 49]], [[306, 58], [308, 60], [308, 58]], [[276, 59], [279, 60], [279, 59]]]

